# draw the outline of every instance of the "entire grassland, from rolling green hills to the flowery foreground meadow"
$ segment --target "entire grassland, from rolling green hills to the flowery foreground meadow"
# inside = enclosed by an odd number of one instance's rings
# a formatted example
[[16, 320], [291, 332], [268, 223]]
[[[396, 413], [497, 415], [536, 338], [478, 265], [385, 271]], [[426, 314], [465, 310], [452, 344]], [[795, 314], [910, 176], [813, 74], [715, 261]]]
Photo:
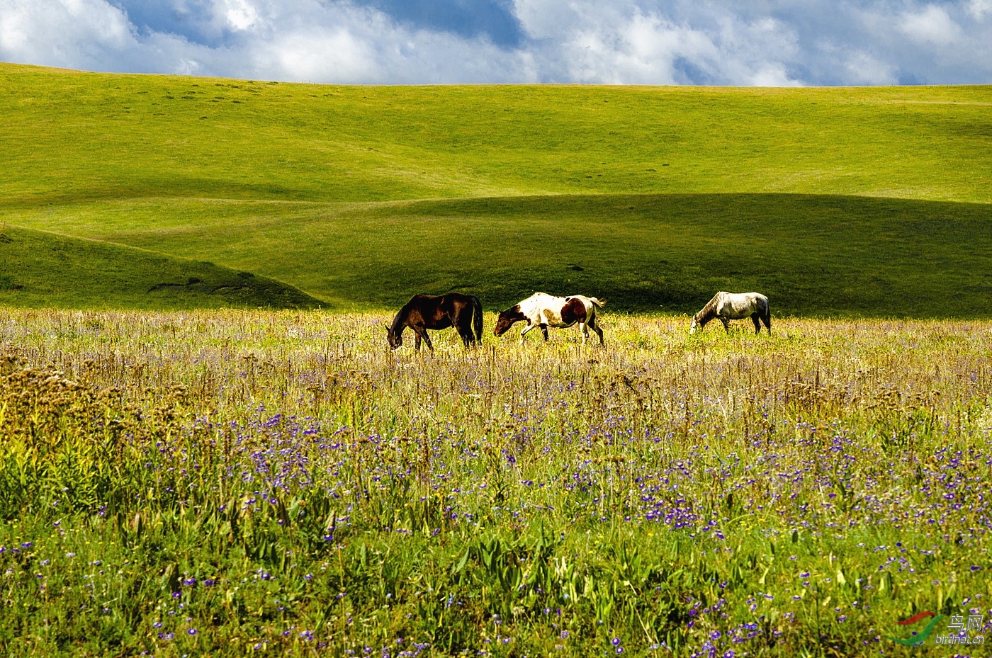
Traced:
[[[3, 653], [989, 634], [992, 87], [0, 86]], [[450, 289], [607, 346], [388, 352]]]

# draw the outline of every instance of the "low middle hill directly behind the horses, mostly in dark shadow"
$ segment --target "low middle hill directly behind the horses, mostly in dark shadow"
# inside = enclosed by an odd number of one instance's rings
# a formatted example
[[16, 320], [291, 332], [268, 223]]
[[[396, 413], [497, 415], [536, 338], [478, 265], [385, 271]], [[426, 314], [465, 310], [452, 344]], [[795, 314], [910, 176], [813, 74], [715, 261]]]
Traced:
[[452, 289], [490, 310], [535, 290], [584, 291], [621, 312], [694, 311], [721, 289], [765, 291], [777, 314], [976, 316], [992, 304], [985, 204], [610, 194], [90, 207], [36, 226], [262, 272], [337, 308]]

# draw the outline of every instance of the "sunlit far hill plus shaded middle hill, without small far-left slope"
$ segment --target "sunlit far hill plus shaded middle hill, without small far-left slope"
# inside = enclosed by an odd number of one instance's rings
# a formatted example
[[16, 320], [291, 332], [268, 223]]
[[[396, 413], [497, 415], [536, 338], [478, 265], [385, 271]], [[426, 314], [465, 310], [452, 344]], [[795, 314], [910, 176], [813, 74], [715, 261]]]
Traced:
[[535, 289], [631, 311], [716, 289], [786, 313], [992, 307], [992, 87], [342, 87], [7, 64], [0, 84], [0, 222], [338, 307], [452, 288], [487, 308]]

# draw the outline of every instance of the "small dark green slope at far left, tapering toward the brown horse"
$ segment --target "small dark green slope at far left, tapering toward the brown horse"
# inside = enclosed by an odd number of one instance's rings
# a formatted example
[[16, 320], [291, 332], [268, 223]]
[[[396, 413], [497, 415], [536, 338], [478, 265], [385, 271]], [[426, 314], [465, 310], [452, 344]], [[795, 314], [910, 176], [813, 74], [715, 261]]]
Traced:
[[28, 229], [0, 232], [0, 254], [0, 305], [180, 309], [319, 303], [264, 276]]

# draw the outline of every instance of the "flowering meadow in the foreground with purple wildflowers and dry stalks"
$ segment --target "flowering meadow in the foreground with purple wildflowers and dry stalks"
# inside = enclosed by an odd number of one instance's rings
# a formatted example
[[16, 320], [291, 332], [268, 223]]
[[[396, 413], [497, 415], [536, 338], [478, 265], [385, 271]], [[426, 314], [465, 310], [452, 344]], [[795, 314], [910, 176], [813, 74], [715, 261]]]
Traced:
[[[609, 309], [607, 309], [609, 310]], [[992, 322], [386, 348], [0, 312], [5, 655], [853, 656], [992, 628]], [[960, 648], [960, 647], [958, 647]], [[978, 647], [978, 653], [987, 651]]]

